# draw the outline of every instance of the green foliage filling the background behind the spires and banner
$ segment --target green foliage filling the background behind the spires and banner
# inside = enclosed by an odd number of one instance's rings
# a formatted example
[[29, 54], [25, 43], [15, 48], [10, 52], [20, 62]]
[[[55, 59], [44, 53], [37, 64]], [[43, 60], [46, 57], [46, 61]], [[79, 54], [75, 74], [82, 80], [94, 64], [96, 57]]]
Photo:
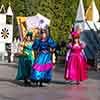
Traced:
[[[85, 9], [91, 0], [83, 0]], [[17, 33], [16, 16], [32, 16], [40, 13], [51, 20], [51, 36], [59, 42], [61, 39], [67, 41], [68, 33], [75, 21], [79, 0], [1, 0], [0, 4], [6, 7], [11, 3], [15, 23], [14, 32]], [[95, 0], [100, 11], [99, 0]], [[17, 36], [16, 34], [14, 36]]]

